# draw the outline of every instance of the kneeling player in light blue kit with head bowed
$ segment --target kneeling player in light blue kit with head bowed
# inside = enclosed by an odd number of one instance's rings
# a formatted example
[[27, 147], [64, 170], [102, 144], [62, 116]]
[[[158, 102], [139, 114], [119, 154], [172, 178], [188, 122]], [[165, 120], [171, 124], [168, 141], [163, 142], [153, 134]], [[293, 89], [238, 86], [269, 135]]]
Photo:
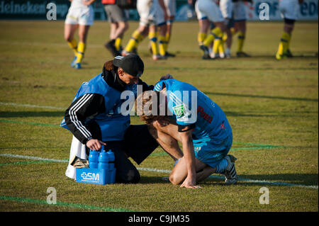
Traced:
[[135, 105], [151, 135], [176, 161], [169, 181], [198, 188], [198, 181], [216, 173], [225, 175], [225, 183], [237, 182], [236, 159], [228, 155], [232, 129], [225, 113], [208, 96], [191, 84], [167, 79], [159, 81], [154, 91], [140, 94]]

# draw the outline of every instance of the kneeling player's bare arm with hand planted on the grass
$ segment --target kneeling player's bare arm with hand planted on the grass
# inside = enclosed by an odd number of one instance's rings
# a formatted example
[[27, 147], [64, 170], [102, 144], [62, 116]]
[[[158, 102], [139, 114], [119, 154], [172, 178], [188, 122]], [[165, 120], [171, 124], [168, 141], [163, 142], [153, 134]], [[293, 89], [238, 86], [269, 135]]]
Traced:
[[179, 136], [183, 147], [184, 159], [187, 167], [187, 177], [181, 187], [199, 188], [196, 186], [196, 168], [195, 168], [195, 153], [193, 139], [191, 137], [194, 125], [179, 125]]

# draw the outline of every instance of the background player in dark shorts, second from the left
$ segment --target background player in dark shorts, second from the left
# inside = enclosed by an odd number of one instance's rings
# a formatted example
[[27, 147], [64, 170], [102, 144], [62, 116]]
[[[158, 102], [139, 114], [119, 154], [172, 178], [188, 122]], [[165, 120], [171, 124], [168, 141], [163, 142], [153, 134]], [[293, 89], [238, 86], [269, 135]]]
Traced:
[[128, 30], [128, 15], [125, 9], [116, 4], [116, 0], [102, 0], [102, 4], [108, 16], [108, 23], [111, 25], [110, 41], [105, 44], [105, 47], [115, 57], [121, 55], [122, 38], [125, 30]]

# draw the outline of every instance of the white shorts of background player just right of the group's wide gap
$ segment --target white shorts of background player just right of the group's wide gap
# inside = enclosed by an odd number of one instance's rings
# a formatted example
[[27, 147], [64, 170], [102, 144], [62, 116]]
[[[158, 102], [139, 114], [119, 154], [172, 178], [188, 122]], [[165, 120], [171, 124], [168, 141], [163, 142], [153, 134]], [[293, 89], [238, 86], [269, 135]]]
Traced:
[[196, 3], [201, 19], [207, 16], [208, 20], [212, 22], [224, 21], [223, 14], [214, 0], [198, 0]]

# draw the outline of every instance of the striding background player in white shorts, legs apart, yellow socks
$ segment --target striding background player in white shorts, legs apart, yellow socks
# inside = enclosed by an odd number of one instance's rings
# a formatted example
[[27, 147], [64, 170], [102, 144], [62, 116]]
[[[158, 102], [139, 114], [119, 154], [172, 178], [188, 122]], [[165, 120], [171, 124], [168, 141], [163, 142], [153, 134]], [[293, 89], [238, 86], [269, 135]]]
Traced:
[[[157, 35], [156, 29], [157, 25], [164, 25], [164, 16], [160, 16], [158, 1], [163, 0], [138, 0], [137, 9], [140, 15], [140, 25], [131, 35], [128, 44], [122, 52], [122, 55], [130, 55], [134, 49], [138, 47], [138, 44], [145, 38], [148, 33], [148, 38], [150, 40], [150, 45], [152, 48], [152, 59], [153, 60], [163, 60], [166, 59], [165, 56], [159, 55], [159, 47], [157, 45]], [[161, 4], [162, 5], [162, 4]]]

